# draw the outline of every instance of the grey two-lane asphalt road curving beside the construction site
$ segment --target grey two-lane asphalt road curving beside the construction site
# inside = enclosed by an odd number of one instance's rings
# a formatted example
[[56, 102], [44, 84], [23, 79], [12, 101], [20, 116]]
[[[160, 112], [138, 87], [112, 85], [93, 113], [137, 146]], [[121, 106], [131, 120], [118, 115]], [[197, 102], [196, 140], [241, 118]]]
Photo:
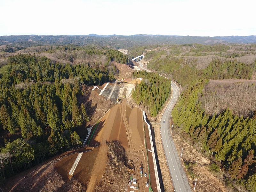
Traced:
[[172, 183], [173, 183], [175, 192], [176, 191], [191, 192], [187, 176], [180, 162], [180, 156], [177, 153], [177, 149], [175, 148], [175, 145], [172, 140], [171, 131], [168, 128], [169, 116], [171, 114], [172, 108], [174, 107], [176, 101], [180, 96], [179, 88], [173, 82], [172, 82], [172, 90], [173, 90], [172, 99], [168, 103], [168, 106], [166, 107], [163, 113], [161, 123], [160, 123], [161, 137], [163, 141], [164, 153], [166, 156], [167, 165], [171, 173]]

